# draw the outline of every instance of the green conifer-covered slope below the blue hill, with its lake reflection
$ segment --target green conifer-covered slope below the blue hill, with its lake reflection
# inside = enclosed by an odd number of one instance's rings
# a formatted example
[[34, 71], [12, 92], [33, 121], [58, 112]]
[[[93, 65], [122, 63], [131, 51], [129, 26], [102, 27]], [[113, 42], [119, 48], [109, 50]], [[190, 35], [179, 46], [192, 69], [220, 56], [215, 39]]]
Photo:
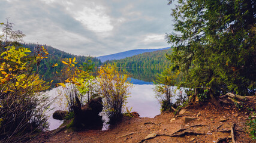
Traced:
[[103, 64], [116, 64], [122, 70], [127, 71], [134, 79], [143, 80], [144, 82], [152, 82], [155, 77], [170, 67], [171, 62], [167, 60], [165, 54], [171, 54], [171, 48], [144, 52], [143, 54], [134, 55], [132, 57], [123, 58], [121, 60], [108, 60]]

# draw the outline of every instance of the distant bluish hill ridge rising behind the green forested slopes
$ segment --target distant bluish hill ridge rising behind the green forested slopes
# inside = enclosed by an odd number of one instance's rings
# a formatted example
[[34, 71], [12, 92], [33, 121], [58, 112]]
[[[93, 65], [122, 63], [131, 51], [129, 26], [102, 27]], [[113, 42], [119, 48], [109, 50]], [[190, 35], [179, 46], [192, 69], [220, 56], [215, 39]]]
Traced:
[[116, 54], [103, 55], [97, 58], [100, 59], [101, 62], [105, 62], [107, 60], [120, 60], [122, 58], [132, 57], [133, 55], [142, 54], [144, 52], [160, 51], [160, 50], [169, 49], [169, 48], [170, 47], [161, 48], [161, 49], [133, 49], [125, 52], [118, 52]]

